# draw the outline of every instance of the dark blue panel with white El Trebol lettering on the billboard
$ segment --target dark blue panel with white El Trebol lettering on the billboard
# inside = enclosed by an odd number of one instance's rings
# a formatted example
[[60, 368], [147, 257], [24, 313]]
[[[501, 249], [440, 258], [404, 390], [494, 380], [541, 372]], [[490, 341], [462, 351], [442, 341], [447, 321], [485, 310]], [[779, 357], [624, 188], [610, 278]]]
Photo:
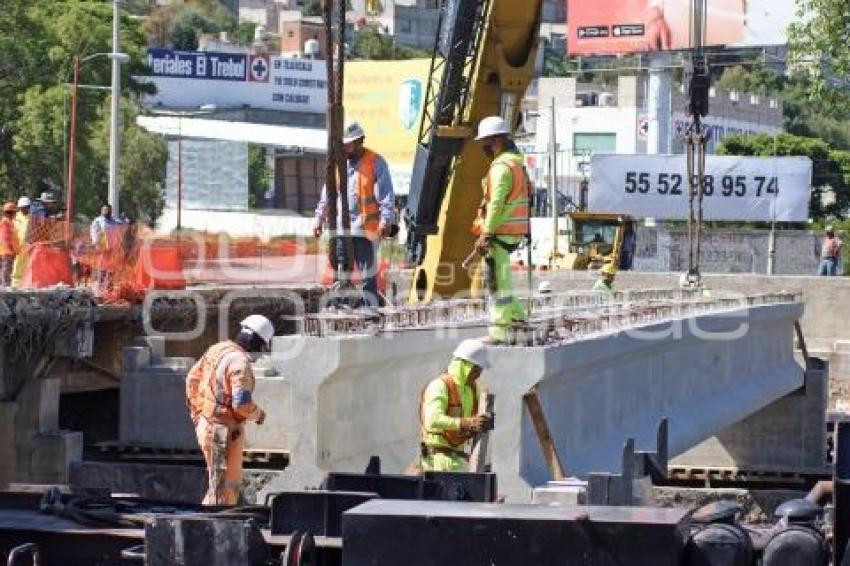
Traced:
[[148, 49], [147, 64], [155, 77], [245, 81], [248, 58], [241, 53]]

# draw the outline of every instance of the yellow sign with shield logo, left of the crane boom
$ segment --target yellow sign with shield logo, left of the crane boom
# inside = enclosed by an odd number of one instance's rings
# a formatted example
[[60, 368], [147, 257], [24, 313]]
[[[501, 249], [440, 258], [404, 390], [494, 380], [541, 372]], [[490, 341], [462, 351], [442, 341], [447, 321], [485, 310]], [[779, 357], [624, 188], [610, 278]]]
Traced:
[[399, 194], [413, 169], [430, 67], [430, 59], [345, 64], [345, 118], [366, 130], [366, 147], [387, 160]]

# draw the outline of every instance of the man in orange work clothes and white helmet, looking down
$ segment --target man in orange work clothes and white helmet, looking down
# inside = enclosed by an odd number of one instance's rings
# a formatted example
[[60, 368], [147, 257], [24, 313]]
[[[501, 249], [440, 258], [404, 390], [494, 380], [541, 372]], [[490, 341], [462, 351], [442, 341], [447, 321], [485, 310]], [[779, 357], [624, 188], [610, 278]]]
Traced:
[[235, 505], [242, 484], [245, 421], [263, 424], [266, 413], [254, 400], [251, 362], [267, 352], [271, 321], [251, 315], [235, 339], [212, 346], [186, 376], [186, 404], [204, 454], [209, 488], [204, 505]]

